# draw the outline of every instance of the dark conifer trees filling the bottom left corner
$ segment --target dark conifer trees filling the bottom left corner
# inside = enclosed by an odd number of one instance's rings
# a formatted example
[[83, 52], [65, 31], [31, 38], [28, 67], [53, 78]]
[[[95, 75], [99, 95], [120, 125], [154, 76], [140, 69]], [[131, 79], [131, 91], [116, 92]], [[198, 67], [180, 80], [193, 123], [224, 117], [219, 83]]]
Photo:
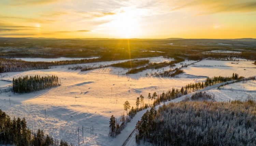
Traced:
[[40, 129], [32, 133], [25, 118], [13, 118], [0, 109], [0, 144], [17, 146], [72, 146], [67, 142], [54, 140]]

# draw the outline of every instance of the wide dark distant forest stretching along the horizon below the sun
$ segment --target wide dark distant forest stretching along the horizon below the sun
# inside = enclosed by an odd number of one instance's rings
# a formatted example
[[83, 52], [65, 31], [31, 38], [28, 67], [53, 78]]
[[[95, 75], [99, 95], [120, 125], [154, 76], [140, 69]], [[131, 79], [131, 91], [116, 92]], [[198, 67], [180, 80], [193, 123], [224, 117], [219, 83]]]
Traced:
[[[232, 45], [219, 45], [218, 43]], [[226, 60], [232, 57], [256, 60], [255, 42], [234, 40], [79, 40], [0, 38], [0, 44], [0, 73], [47, 69], [51, 66], [59, 65], [137, 59], [156, 56], [164, 56], [167, 58], [179, 57], [189, 60], [201, 60], [209, 57]], [[241, 53], [210, 52], [213, 50], [239, 50]], [[4, 59], [14, 57], [56, 58], [95, 56], [98, 56], [99, 58], [54, 62], [28, 62], [22, 60]], [[132, 70], [128, 73], [132, 72], [137, 71]]]

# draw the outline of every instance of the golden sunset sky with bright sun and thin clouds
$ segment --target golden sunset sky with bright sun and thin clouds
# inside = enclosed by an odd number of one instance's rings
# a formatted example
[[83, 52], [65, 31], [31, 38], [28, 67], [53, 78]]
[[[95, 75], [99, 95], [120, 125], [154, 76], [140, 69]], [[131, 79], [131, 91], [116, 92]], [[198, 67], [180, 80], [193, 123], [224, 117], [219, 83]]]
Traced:
[[256, 38], [256, 0], [0, 0], [1, 37]]

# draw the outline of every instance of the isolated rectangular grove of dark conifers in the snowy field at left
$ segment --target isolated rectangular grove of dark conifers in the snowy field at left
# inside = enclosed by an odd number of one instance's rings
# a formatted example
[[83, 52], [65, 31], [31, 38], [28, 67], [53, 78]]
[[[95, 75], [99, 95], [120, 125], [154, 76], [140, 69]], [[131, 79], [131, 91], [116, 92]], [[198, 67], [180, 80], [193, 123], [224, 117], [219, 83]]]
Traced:
[[46, 88], [56, 87], [60, 85], [59, 77], [45, 76], [24, 76], [13, 78], [13, 92], [14, 93], [29, 93]]

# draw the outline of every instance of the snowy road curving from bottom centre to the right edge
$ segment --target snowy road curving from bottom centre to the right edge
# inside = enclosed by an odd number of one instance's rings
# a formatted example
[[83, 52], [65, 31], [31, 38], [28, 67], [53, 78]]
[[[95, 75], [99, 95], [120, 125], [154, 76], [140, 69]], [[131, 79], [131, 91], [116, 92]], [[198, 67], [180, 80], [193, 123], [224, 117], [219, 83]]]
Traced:
[[[250, 79], [251, 77], [248, 77], [248, 78], [244, 78], [244, 79], [241, 79], [240, 81], [243, 81], [243, 80], [246, 80], [246, 79]], [[256, 76], [254, 77], [256, 78]], [[210, 89], [213, 89], [213, 88], [216, 88], [216, 87], [220, 87], [222, 85], [225, 85], [225, 84], [232, 84], [232, 83], [236, 83], [237, 80], [231, 80], [231, 81], [226, 81], [226, 82], [223, 82], [223, 83], [218, 83], [218, 84], [215, 84], [215, 85], [212, 85], [212, 86], [209, 86], [209, 87], [206, 87], [204, 89], [201, 89], [201, 90], [197, 90], [195, 92], [191, 92], [187, 95], [183, 95], [179, 98], [175, 98], [171, 101], [168, 101], [168, 102], [165, 102], [165, 104], [168, 104], [168, 103], [171, 103], [171, 102], [181, 102], [183, 101], [186, 97], [191, 97], [194, 93], [196, 92], [203, 92], [203, 91], [207, 91], [207, 90], [210, 90]], [[155, 108], [158, 109], [159, 106], [162, 106], [162, 104], [160, 105], [157, 105]], [[135, 146], [136, 145], [136, 142], [135, 142], [135, 135], [136, 135], [136, 132], [137, 130], [135, 129], [136, 127], [136, 124], [137, 122], [141, 119], [142, 115], [147, 111], [149, 110], [148, 109], [144, 109], [140, 112], [138, 112], [136, 114], [136, 116], [133, 117], [133, 120], [128, 123], [126, 129], [124, 129], [119, 135], [116, 136], [116, 138], [113, 140], [112, 144], [113, 145], [119, 145], [119, 146]]]

